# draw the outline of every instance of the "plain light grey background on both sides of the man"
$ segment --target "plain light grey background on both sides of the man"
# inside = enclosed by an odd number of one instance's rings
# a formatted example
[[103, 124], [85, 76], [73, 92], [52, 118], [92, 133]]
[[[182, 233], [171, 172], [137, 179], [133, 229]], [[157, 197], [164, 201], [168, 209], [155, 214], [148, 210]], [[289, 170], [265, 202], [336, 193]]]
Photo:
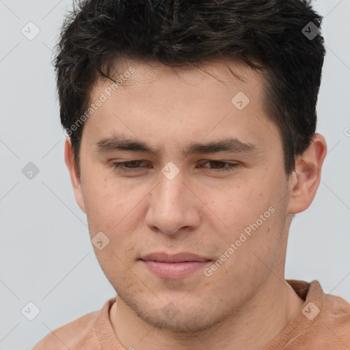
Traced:
[[[70, 5], [0, 0], [0, 350], [31, 349], [115, 295], [64, 164], [51, 50]], [[314, 8], [325, 16], [317, 131], [328, 154], [314, 202], [291, 225], [286, 278], [319, 280], [325, 293], [350, 301], [350, 1], [318, 0]], [[40, 29], [33, 40], [21, 33], [29, 21]], [[40, 170], [32, 180], [21, 172], [29, 162]], [[21, 313], [29, 301], [40, 308], [33, 321]]]

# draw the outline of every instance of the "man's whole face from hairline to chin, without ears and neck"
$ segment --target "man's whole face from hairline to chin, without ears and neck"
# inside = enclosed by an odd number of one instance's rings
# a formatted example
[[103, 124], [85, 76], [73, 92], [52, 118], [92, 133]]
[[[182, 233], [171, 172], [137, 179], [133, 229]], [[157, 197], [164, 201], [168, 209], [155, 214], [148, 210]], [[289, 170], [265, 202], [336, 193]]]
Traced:
[[[92, 102], [105, 98], [83, 126], [77, 202], [124, 304], [157, 327], [205, 329], [239, 312], [271, 271], [284, 278], [282, 142], [262, 107], [262, 79], [245, 65], [129, 62], [120, 74], [130, 66], [116, 91], [110, 81], [92, 90]], [[197, 258], [165, 262], [179, 253]]]

